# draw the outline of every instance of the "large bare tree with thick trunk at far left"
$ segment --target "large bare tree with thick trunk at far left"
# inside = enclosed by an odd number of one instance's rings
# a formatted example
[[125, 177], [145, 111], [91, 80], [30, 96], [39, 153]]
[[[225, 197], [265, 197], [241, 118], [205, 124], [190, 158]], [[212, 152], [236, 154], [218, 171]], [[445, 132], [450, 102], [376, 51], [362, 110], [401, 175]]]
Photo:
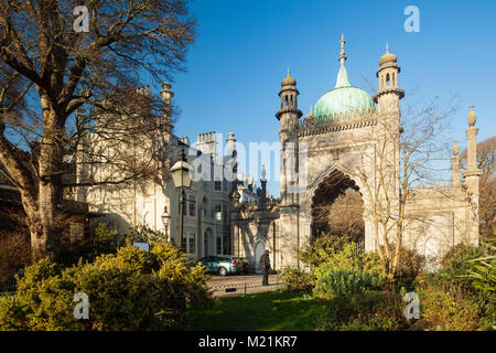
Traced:
[[[125, 117], [122, 124], [133, 122], [129, 133], [114, 129], [116, 141], [157, 128], [140, 125], [147, 121], [142, 104], [148, 98], [132, 88], [143, 76], [162, 82], [183, 69], [194, 40], [195, 24], [183, 0], [89, 0], [87, 32], [78, 28], [78, 6], [0, 1], [0, 162], [21, 193], [34, 260], [60, 246], [63, 175], [69, 172], [64, 156], [74, 153], [88, 130], [112, 124], [105, 110]], [[23, 99], [26, 105], [19, 109]], [[76, 117], [83, 107], [88, 114]], [[140, 133], [133, 136], [139, 143]], [[125, 171], [122, 178], [99, 182], [125, 182], [150, 171], [151, 162], [136, 153], [107, 156], [110, 161]]]

